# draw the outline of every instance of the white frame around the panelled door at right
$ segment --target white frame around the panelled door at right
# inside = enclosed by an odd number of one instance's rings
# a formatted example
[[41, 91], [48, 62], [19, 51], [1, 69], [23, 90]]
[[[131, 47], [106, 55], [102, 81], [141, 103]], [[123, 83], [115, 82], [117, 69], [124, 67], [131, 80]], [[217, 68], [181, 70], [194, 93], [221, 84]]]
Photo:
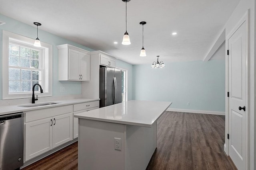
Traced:
[[228, 65], [228, 62], [229, 62], [229, 58], [228, 58], [228, 54], [227, 54], [227, 50], [228, 50], [228, 39], [230, 39], [230, 37], [236, 32], [236, 30], [245, 22], [246, 24], [246, 47], [245, 47], [245, 52], [246, 52], [246, 97], [245, 97], [245, 100], [246, 100], [246, 104], [245, 104], [245, 107], [247, 109], [247, 113], [245, 114], [246, 116], [246, 153], [245, 153], [245, 159], [246, 159], [246, 170], [248, 170], [248, 167], [249, 167], [249, 150], [248, 150], [248, 146], [249, 146], [249, 138], [248, 138], [248, 129], [250, 127], [249, 125], [249, 117], [250, 117], [250, 111], [249, 111], [249, 107], [248, 107], [248, 101], [249, 101], [249, 95], [248, 95], [248, 80], [249, 80], [249, 75], [248, 75], [248, 44], [249, 44], [249, 39], [248, 39], [248, 32], [249, 32], [249, 24], [248, 24], [248, 21], [249, 21], [249, 9], [246, 11], [246, 13], [242, 16], [242, 18], [238, 21], [238, 23], [234, 26], [234, 28], [232, 29], [232, 31], [230, 31], [230, 33], [228, 33], [228, 35], [226, 36], [226, 57], [225, 57], [225, 74], [226, 74], [226, 86], [225, 86], [225, 92], [226, 92], [226, 98], [225, 98], [225, 116], [226, 116], [226, 119], [225, 119], [225, 144], [224, 144], [224, 151], [226, 152], [227, 155], [229, 155], [229, 140], [228, 140], [228, 133], [229, 133], [229, 98], [228, 98], [228, 92], [229, 92], [229, 65]]

